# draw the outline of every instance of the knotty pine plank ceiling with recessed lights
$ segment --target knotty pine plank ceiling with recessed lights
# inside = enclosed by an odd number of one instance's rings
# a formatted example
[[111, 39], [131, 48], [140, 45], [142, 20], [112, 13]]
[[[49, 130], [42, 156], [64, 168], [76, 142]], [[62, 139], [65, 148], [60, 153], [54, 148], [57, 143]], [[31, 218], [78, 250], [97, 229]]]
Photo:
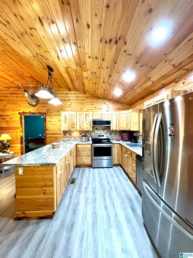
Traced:
[[[54, 88], [130, 105], [170, 84], [192, 84], [192, 0], [1, 0], [0, 6], [0, 88], [45, 84], [47, 65]], [[168, 34], [153, 42], [161, 26]], [[127, 71], [135, 74], [132, 82], [124, 80]]]

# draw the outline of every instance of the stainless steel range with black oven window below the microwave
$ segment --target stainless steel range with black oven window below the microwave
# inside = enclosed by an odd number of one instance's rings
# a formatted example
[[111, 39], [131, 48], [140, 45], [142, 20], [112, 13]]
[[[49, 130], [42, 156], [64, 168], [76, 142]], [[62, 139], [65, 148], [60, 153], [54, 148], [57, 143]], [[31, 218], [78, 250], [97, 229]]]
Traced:
[[112, 168], [112, 142], [110, 134], [92, 136], [93, 168]]

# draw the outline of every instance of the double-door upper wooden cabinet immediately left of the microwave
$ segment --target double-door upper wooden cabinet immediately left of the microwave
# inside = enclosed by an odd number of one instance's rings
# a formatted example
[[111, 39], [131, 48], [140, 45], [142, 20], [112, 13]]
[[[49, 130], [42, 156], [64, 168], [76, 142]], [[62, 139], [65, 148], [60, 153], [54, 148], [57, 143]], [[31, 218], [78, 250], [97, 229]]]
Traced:
[[77, 113], [77, 130], [92, 130], [92, 112]]

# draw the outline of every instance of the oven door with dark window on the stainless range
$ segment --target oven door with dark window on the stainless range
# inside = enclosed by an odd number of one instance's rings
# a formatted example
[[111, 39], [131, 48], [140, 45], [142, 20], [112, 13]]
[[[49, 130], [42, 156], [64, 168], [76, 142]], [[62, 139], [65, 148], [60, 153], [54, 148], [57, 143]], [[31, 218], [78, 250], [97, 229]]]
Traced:
[[93, 145], [93, 160], [96, 159], [112, 159], [112, 143], [107, 144], [92, 144]]

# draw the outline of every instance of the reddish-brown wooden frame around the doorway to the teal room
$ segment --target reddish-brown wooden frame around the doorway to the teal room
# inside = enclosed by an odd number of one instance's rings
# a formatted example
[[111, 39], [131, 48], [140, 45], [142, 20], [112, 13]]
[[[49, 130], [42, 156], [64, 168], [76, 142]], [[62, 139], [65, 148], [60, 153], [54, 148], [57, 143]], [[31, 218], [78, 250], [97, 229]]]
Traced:
[[24, 134], [24, 116], [35, 115], [44, 116], [44, 145], [46, 145], [46, 115], [44, 112], [19, 112], [20, 115], [20, 139], [21, 139], [21, 155], [25, 153], [25, 134]]

